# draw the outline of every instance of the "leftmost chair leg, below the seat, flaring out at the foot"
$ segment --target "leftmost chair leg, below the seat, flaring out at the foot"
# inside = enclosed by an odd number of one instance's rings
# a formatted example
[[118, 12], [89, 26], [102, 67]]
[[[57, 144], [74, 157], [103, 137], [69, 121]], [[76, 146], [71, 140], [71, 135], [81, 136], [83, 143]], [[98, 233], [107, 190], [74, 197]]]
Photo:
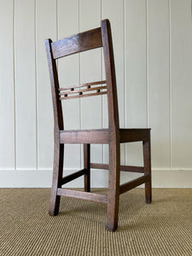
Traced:
[[52, 189], [50, 194], [50, 204], [49, 204], [49, 215], [55, 216], [59, 212], [60, 207], [60, 195], [57, 194], [57, 188], [61, 188], [62, 185], [62, 172], [63, 172], [63, 154], [64, 154], [64, 144], [55, 144], [54, 149], [54, 170], [53, 170], [53, 180]]

